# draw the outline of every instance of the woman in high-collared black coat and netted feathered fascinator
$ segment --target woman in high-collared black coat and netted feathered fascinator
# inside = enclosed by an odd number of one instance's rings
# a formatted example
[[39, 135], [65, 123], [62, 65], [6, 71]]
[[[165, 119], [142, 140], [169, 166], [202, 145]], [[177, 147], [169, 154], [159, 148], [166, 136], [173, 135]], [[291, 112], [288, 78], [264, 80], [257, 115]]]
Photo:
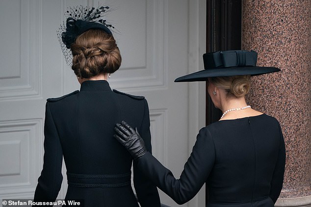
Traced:
[[[121, 54], [110, 31], [113, 27], [99, 20], [99, 13], [106, 10], [84, 6], [71, 9], [58, 33], [66, 61], [81, 86], [79, 91], [47, 101], [44, 164], [34, 202], [55, 201], [64, 158], [68, 189], [63, 206], [139, 207], [139, 203], [140, 207], [160, 207], [156, 185], [134, 163], [135, 197], [131, 186], [133, 159], [113, 138], [115, 123], [129, 120], [151, 153], [146, 99], [111, 90], [107, 81], [120, 68]], [[70, 205], [73, 201], [80, 204]]]

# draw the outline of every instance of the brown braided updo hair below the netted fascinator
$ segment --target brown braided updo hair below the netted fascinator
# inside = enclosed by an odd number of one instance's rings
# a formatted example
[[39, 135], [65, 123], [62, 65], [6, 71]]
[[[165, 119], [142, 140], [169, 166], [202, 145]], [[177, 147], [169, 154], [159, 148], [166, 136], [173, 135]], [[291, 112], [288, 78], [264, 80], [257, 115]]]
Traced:
[[79, 35], [71, 45], [72, 69], [81, 78], [113, 73], [120, 68], [121, 54], [111, 34], [90, 29]]

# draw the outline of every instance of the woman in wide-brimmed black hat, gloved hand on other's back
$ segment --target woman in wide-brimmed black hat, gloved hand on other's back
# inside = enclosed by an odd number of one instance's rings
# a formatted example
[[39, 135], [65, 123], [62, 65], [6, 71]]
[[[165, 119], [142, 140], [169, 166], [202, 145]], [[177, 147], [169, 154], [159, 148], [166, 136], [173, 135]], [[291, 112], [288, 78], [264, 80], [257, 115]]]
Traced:
[[114, 137], [138, 168], [178, 204], [207, 185], [206, 207], [274, 207], [283, 185], [285, 143], [277, 119], [251, 108], [250, 78], [280, 69], [257, 67], [257, 53], [218, 51], [203, 56], [205, 69], [175, 82], [207, 81], [208, 94], [223, 114], [202, 128], [180, 179], [146, 149], [131, 124], [122, 121]]

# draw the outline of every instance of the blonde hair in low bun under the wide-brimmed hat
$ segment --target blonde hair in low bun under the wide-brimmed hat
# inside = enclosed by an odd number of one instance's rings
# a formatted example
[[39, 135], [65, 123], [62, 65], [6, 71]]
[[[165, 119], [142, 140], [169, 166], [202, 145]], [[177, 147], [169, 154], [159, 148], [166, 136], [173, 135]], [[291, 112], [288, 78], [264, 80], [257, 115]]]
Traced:
[[211, 77], [210, 81], [218, 88], [227, 92], [227, 97], [241, 97], [250, 91], [251, 76], [250, 75], [235, 75], [224, 77]]

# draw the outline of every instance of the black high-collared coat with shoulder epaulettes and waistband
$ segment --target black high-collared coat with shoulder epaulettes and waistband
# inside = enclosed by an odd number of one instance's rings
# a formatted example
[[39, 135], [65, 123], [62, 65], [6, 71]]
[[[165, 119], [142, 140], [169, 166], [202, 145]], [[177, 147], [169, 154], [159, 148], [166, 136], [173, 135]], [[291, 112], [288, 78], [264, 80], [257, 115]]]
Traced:
[[[80, 92], [48, 99], [44, 164], [34, 201], [54, 201], [67, 168], [67, 200], [84, 207], [138, 207], [131, 188], [130, 153], [113, 138], [114, 125], [128, 120], [151, 153], [149, 109], [143, 96], [111, 91], [107, 81], [85, 81]], [[134, 163], [133, 181], [142, 207], [159, 207], [156, 186]]]

